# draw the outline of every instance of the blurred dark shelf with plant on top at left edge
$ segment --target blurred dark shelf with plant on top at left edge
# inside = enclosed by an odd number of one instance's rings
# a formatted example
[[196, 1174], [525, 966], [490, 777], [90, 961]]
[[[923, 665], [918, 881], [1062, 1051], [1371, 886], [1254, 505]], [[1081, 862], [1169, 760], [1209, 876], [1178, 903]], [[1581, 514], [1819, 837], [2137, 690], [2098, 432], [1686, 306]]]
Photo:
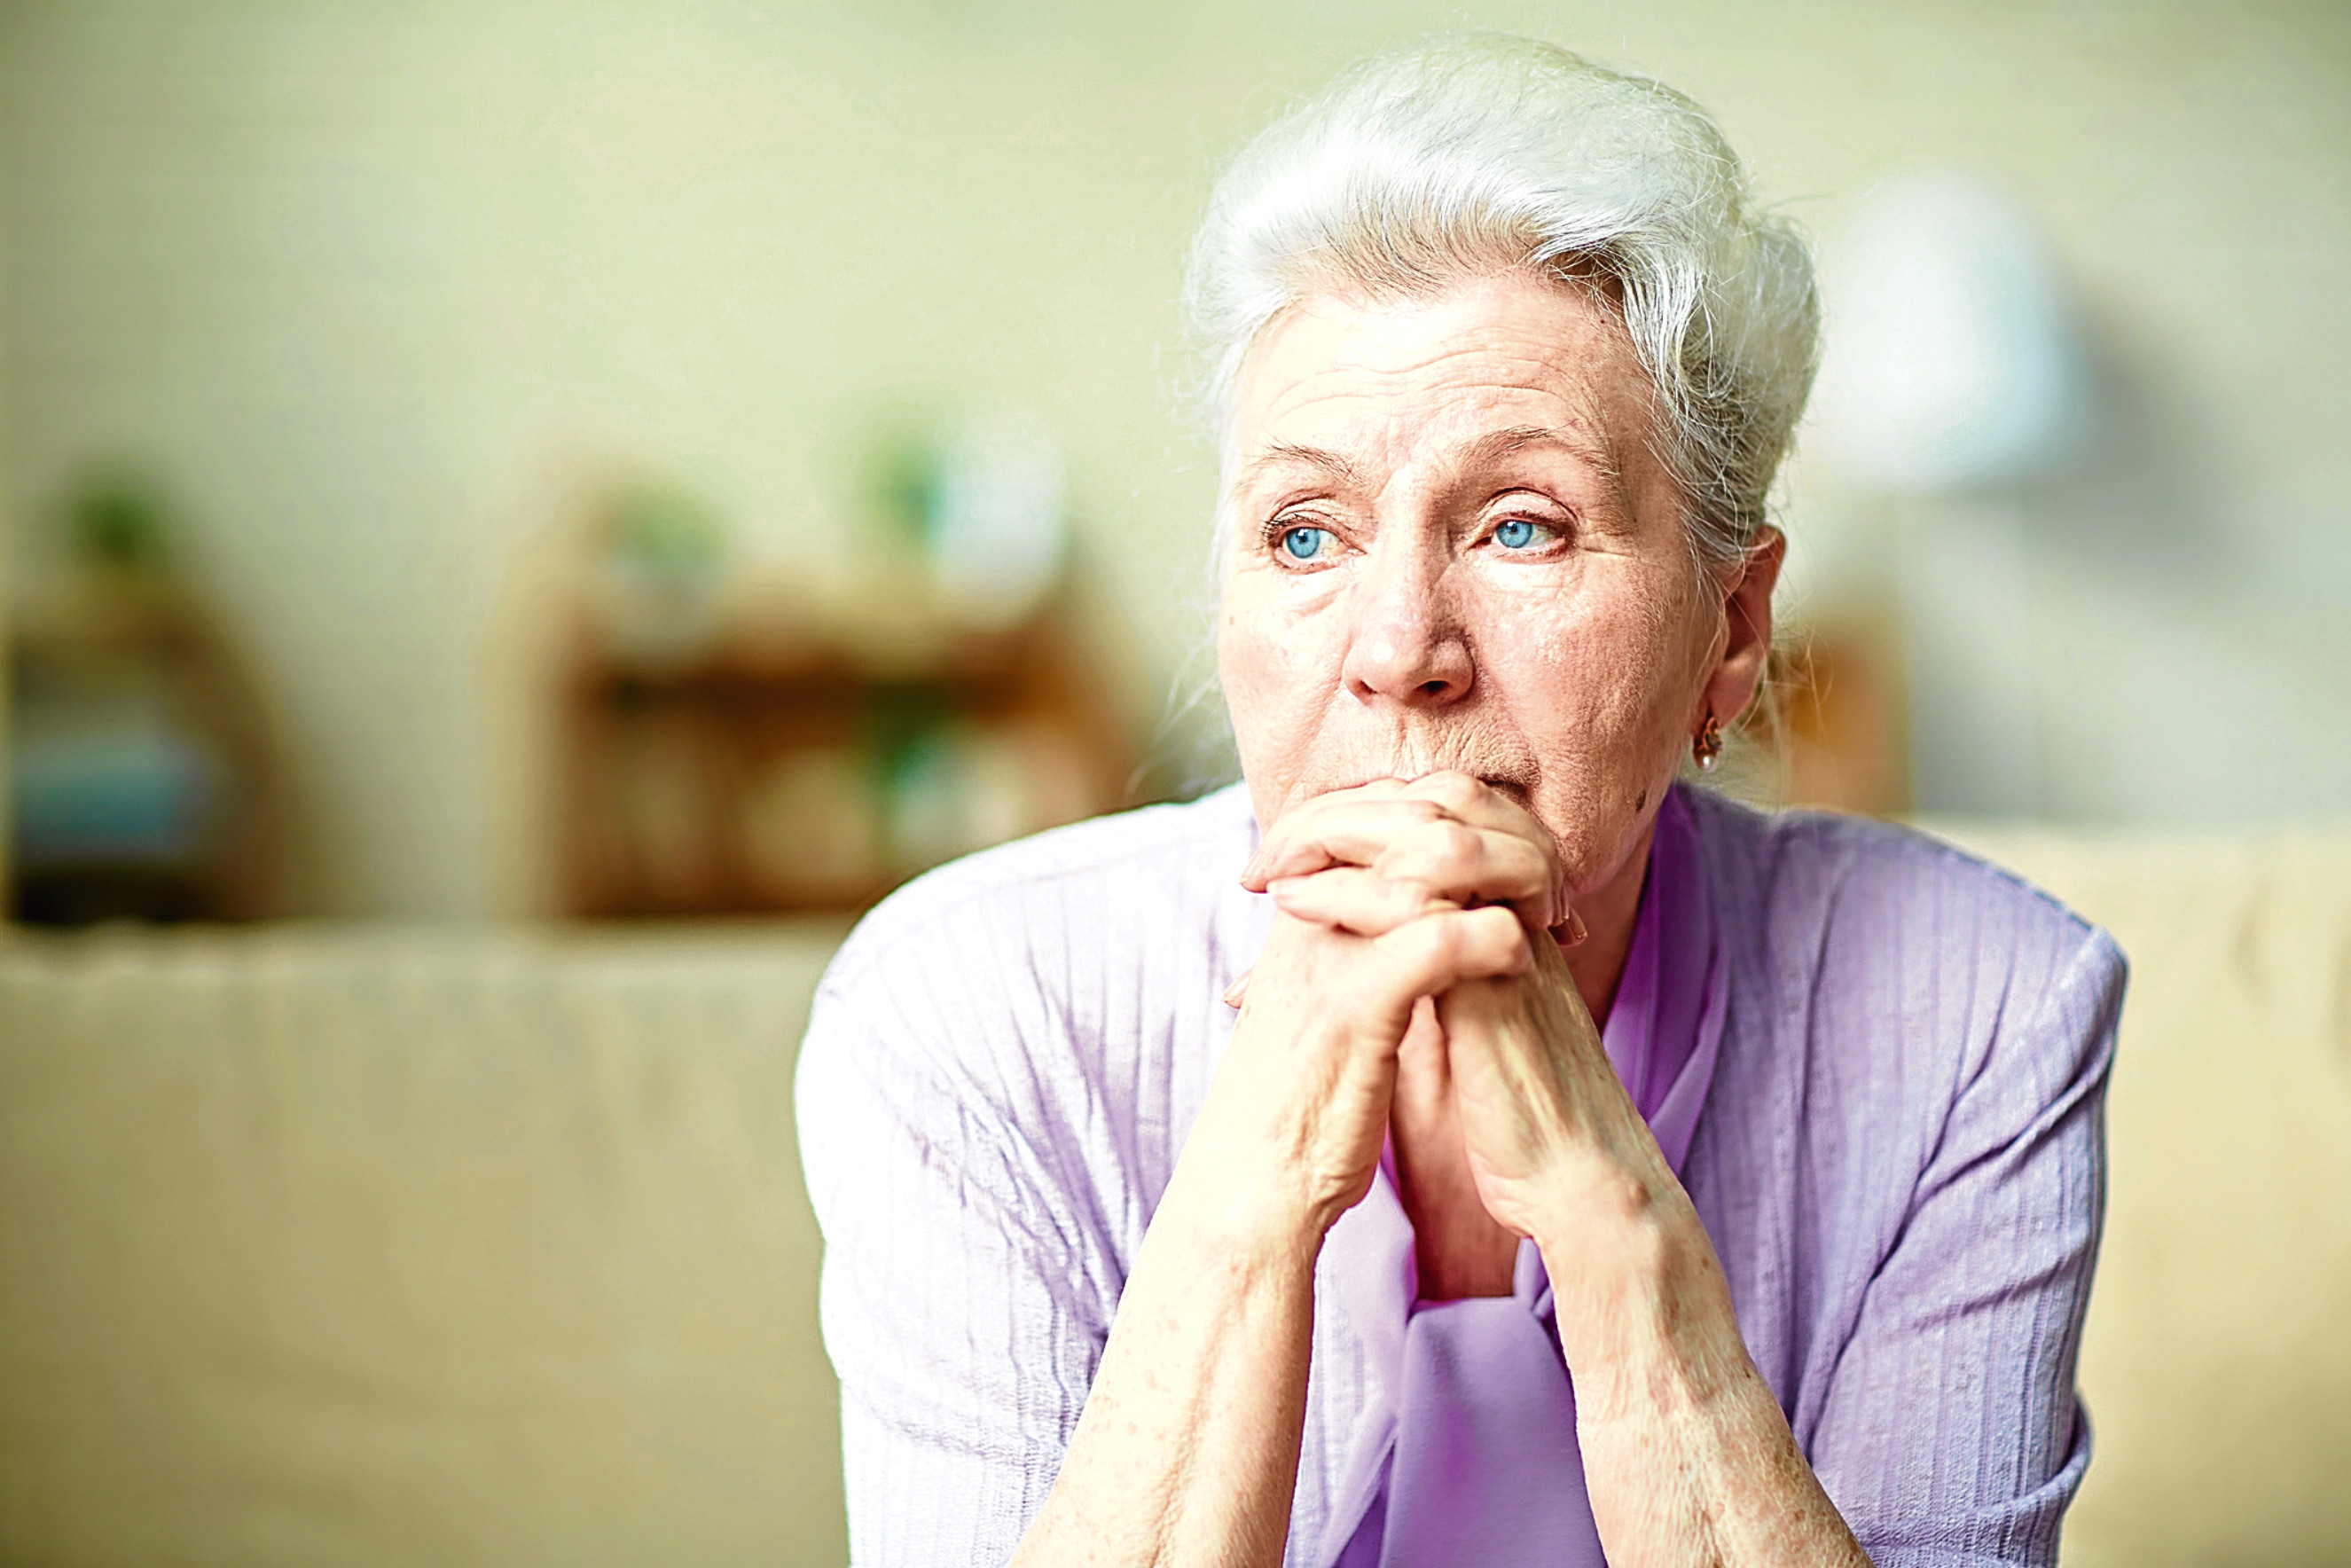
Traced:
[[12, 646], [14, 914], [280, 912], [284, 792], [261, 708], [172, 571], [155, 491], [103, 477], [68, 505], [73, 574]]

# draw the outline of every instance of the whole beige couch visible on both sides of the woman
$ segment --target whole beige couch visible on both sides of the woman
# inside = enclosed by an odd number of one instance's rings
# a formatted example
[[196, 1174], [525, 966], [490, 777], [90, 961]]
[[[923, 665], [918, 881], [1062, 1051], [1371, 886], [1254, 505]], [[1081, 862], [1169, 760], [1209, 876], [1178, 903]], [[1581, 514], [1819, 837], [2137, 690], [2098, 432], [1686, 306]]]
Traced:
[[[2135, 969], [2069, 1568], [2351, 1563], [2351, 832], [1958, 837]], [[837, 1563], [837, 936], [0, 940], [0, 1561]]]

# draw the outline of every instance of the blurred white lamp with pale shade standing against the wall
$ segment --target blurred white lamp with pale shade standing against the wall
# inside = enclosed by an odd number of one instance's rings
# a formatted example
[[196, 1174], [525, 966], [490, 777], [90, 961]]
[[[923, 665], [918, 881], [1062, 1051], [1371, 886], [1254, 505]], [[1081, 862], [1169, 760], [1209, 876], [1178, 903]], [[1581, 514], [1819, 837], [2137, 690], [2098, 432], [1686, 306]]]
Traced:
[[2041, 804], [2031, 562], [2015, 484], [2090, 423], [2088, 374], [2024, 207], [1968, 174], [1864, 195], [1822, 266], [1813, 447], [1895, 503], [1914, 804]]

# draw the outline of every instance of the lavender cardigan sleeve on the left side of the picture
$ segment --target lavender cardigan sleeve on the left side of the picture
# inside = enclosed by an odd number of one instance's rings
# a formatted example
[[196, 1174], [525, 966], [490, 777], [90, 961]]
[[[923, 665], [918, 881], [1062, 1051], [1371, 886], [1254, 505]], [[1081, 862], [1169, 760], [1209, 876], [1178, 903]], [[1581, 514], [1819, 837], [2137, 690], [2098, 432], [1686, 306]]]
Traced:
[[1020, 1112], [1046, 1091], [1004, 999], [976, 994], [987, 966], [936, 961], [959, 940], [985, 933], [837, 964], [797, 1070], [849, 1554], [872, 1568], [1006, 1561], [1107, 1338], [1081, 1194], [1023, 1133], [1051, 1126]]

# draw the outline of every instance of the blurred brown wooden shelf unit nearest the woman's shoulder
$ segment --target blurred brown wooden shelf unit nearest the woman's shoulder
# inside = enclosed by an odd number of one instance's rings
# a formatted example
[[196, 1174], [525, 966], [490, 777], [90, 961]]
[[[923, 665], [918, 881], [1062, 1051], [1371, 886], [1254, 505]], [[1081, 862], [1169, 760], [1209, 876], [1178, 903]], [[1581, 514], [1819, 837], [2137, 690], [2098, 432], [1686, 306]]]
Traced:
[[1124, 731], [1051, 614], [863, 639], [776, 625], [658, 661], [583, 630], [562, 696], [571, 914], [849, 912], [1124, 804]]

